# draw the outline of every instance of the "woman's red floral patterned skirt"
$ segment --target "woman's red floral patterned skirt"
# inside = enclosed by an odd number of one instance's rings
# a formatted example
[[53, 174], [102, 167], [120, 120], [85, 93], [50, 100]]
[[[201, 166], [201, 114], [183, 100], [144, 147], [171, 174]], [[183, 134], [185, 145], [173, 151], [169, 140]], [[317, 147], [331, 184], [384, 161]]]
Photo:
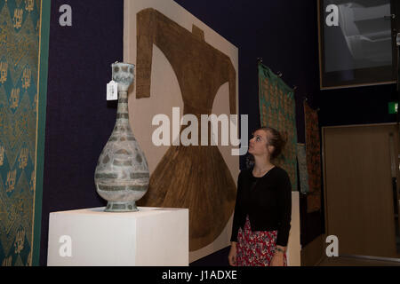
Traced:
[[[252, 232], [249, 217], [246, 217], [244, 229], [237, 234], [238, 266], [269, 266], [276, 249], [277, 231]], [[284, 266], [287, 266], [284, 254]]]

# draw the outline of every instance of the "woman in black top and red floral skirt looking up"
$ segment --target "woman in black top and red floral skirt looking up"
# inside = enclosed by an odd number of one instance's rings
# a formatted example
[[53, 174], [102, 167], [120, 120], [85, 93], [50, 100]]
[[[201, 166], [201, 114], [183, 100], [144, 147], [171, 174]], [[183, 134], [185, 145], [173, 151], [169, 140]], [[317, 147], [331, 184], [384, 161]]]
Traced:
[[237, 181], [229, 264], [286, 266], [291, 228], [292, 185], [285, 170], [273, 164], [285, 140], [275, 129], [256, 130], [249, 154], [254, 167], [242, 170]]

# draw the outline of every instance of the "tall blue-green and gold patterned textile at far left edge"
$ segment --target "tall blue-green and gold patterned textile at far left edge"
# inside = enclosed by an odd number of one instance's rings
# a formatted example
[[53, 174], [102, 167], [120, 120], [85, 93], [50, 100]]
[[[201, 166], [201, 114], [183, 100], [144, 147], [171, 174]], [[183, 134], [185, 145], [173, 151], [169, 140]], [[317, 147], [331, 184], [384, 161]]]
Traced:
[[[43, 102], [45, 108], [45, 93], [41, 92], [39, 82], [46, 83], [39, 75], [41, 10], [41, 0], [0, 0], [0, 265], [3, 266], [32, 265], [34, 243], [39, 243], [34, 241], [36, 230], [40, 231], [36, 211], [41, 211], [41, 202], [36, 200], [41, 199], [36, 173], [43, 176], [42, 167], [37, 169], [37, 160], [43, 160], [43, 153], [38, 153], [37, 147], [44, 141], [40, 134], [44, 123], [39, 121], [38, 113]], [[46, 12], [49, 18], [50, 10]]]

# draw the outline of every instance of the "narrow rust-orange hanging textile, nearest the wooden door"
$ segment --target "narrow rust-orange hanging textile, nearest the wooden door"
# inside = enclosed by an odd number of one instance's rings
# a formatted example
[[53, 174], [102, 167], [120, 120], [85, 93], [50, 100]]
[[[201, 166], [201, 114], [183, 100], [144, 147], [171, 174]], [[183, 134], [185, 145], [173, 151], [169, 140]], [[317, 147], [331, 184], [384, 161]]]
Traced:
[[307, 212], [321, 209], [321, 142], [318, 127], [318, 113], [304, 102], [306, 123], [306, 153], [308, 165]]

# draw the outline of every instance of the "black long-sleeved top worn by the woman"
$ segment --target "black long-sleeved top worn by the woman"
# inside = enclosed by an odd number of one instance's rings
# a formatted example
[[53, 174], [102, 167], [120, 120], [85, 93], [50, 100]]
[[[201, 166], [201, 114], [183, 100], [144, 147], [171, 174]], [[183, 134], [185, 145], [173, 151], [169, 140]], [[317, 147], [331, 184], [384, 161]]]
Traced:
[[292, 185], [287, 172], [275, 167], [263, 177], [242, 170], [237, 180], [236, 205], [230, 241], [249, 216], [252, 232], [277, 231], [276, 245], [286, 247], [292, 219]]

